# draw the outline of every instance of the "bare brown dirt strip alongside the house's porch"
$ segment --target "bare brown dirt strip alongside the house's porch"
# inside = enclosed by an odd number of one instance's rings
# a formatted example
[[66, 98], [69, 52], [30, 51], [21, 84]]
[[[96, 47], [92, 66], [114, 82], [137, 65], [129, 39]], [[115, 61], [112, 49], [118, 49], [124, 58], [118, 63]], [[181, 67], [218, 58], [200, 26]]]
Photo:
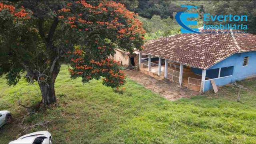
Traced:
[[128, 71], [125, 70], [126, 75], [134, 81], [144, 85], [146, 89], [159, 93], [168, 100], [174, 101], [182, 97], [190, 97], [198, 95], [196, 91], [190, 91], [186, 87], [180, 88], [178, 83], [163, 79], [157, 80], [154, 77], [150, 77], [140, 71]]

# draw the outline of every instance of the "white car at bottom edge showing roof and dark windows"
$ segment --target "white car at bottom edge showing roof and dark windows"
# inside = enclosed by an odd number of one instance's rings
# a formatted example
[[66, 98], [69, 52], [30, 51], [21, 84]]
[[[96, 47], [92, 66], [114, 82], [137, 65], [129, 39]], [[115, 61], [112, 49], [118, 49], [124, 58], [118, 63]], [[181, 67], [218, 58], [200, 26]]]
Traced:
[[52, 144], [52, 135], [48, 131], [32, 132], [9, 144]]

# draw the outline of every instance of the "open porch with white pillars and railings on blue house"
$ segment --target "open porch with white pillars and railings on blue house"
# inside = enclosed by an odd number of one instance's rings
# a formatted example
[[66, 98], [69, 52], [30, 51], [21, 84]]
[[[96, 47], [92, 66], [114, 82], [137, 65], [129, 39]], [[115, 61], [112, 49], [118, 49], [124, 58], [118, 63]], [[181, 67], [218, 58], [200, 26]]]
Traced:
[[169, 79], [187, 87], [190, 90], [202, 92], [202, 81], [206, 79], [206, 71], [202, 70], [202, 75], [194, 73], [192, 67], [176, 63], [168, 59], [162, 59], [153, 55], [140, 54], [140, 71], [157, 77], [159, 79]]

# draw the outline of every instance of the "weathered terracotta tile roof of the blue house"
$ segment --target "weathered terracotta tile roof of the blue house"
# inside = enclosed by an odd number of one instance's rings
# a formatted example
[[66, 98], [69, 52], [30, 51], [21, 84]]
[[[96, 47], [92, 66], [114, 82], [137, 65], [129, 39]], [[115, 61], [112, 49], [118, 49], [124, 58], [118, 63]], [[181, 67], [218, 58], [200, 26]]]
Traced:
[[150, 40], [145, 43], [142, 53], [207, 69], [234, 53], [256, 51], [255, 35], [233, 34], [232, 37], [230, 30], [218, 31], [225, 33], [178, 34]]

